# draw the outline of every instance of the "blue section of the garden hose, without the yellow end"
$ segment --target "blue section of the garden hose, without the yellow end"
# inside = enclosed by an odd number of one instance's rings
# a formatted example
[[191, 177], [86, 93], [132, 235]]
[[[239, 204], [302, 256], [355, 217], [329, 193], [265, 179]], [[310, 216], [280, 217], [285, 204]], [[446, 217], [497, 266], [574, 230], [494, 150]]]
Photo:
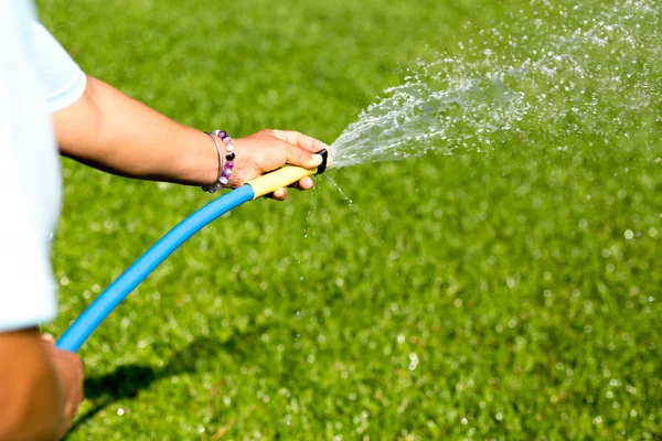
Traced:
[[151, 246], [125, 272], [121, 273], [76, 319], [56, 343], [61, 349], [76, 352], [96, 327], [129, 293], [150, 275], [172, 251], [205, 225], [228, 211], [253, 200], [255, 192], [248, 184], [210, 202], [180, 222], [159, 241]]

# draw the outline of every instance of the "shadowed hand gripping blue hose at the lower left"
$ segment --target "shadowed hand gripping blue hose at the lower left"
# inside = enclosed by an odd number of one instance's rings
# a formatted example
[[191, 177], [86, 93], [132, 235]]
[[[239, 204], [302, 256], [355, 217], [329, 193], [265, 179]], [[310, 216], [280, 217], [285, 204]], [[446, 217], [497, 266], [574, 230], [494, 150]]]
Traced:
[[[81, 358], [68, 351], [61, 351], [55, 347], [55, 341], [49, 334], [40, 337], [46, 356], [51, 361], [51, 365], [55, 370], [55, 376], [60, 381], [60, 388], [64, 398], [64, 427], [60, 438], [64, 437], [66, 431], [72, 426], [74, 416], [78, 410], [78, 406], [83, 401], [83, 362]], [[58, 438], [58, 439], [60, 439]]]

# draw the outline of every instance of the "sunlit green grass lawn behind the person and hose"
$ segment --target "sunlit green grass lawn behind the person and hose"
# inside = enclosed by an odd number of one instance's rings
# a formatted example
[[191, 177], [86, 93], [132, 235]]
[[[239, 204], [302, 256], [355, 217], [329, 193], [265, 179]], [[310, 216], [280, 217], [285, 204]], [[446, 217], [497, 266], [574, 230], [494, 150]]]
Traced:
[[[328, 142], [418, 57], [534, 19], [488, 0], [39, 6], [87, 73], [178, 121]], [[525, 121], [483, 153], [331, 173], [351, 203], [322, 176], [224, 216], [82, 348], [68, 439], [660, 439], [661, 103], [620, 115], [628, 136], [564, 151], [563, 126]], [[63, 172], [56, 335], [210, 201]]]

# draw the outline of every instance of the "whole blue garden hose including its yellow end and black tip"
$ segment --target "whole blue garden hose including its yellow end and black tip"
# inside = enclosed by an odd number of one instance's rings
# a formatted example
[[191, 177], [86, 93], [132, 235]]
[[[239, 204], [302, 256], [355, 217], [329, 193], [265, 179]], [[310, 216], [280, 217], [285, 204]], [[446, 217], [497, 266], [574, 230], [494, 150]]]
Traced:
[[275, 172], [259, 176], [232, 192], [210, 202], [191, 216], [180, 222], [174, 228], [142, 254], [125, 272], [122, 272], [104, 292], [92, 302], [85, 311], [62, 334], [56, 343], [61, 349], [76, 352], [87, 337], [97, 329], [113, 310], [149, 276], [168, 256], [188, 238], [200, 232], [205, 225], [228, 211], [256, 200], [276, 190], [286, 187], [305, 176], [321, 174], [327, 169], [327, 150], [318, 152], [323, 158], [317, 169], [284, 166]]

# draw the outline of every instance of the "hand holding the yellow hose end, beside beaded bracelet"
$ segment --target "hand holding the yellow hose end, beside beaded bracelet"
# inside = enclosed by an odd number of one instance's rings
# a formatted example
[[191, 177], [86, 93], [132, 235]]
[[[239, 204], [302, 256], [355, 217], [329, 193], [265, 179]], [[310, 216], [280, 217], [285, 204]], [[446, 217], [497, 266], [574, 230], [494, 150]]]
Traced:
[[[314, 153], [329, 148], [322, 141], [298, 131], [269, 129], [235, 139], [233, 143], [236, 149], [236, 158], [228, 182], [231, 187], [241, 186], [286, 163], [313, 169], [322, 163], [322, 157]], [[306, 176], [292, 186], [299, 190], [309, 190], [312, 185], [312, 180]], [[287, 189], [278, 189], [271, 197], [284, 201], [287, 197]]]

